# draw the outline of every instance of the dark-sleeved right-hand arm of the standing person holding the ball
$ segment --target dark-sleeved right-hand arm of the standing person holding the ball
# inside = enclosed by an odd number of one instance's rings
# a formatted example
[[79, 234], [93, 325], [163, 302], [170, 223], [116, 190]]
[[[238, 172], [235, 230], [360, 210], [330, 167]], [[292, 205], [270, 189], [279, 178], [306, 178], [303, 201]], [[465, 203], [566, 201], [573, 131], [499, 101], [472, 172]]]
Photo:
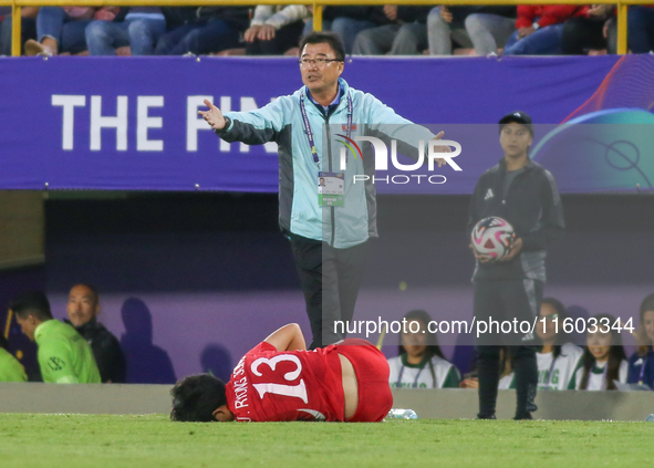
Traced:
[[522, 250], [526, 252], [544, 250], [549, 243], [563, 237], [565, 221], [559, 189], [552, 175], [546, 170], [541, 181], [540, 199], [542, 218], [539, 230], [522, 236]]

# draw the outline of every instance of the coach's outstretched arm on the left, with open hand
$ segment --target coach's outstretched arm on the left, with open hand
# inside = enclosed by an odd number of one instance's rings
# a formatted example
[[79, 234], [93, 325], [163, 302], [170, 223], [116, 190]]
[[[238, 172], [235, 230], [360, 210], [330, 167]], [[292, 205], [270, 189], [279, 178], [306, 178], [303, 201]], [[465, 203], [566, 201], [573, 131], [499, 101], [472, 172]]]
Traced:
[[249, 112], [222, 111], [208, 100], [205, 104], [208, 111], [198, 111], [216, 134], [228, 143], [242, 142], [247, 145], [262, 145], [276, 142], [284, 126], [284, 101], [289, 97], [278, 97], [261, 108]]

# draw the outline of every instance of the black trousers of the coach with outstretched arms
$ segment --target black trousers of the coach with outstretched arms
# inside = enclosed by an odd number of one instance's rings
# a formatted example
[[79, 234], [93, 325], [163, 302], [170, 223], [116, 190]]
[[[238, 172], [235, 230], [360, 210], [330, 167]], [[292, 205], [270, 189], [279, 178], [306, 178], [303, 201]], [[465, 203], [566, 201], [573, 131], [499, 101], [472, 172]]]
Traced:
[[[367, 241], [334, 249], [320, 240], [293, 235], [291, 248], [313, 334], [309, 347], [314, 350], [344, 339], [363, 278]], [[336, 330], [336, 321], [344, 326]]]

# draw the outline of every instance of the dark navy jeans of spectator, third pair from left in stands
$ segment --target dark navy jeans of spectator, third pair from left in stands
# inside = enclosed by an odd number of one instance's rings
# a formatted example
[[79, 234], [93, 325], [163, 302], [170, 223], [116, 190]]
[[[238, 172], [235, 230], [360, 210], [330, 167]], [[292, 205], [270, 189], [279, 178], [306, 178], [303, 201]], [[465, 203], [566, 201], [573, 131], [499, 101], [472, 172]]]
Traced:
[[233, 49], [239, 44], [240, 32], [241, 28], [219, 18], [183, 24], [159, 38], [155, 55], [206, 54]]

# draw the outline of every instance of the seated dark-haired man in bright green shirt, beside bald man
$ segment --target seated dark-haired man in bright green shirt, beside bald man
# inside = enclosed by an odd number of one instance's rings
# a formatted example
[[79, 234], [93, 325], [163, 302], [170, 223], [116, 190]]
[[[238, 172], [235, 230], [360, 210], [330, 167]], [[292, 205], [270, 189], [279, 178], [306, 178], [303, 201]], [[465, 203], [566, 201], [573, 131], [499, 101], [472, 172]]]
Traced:
[[22, 332], [39, 346], [38, 361], [43, 382], [100, 384], [100, 372], [89, 343], [66, 323], [52, 318], [42, 292], [27, 292], [9, 306]]

